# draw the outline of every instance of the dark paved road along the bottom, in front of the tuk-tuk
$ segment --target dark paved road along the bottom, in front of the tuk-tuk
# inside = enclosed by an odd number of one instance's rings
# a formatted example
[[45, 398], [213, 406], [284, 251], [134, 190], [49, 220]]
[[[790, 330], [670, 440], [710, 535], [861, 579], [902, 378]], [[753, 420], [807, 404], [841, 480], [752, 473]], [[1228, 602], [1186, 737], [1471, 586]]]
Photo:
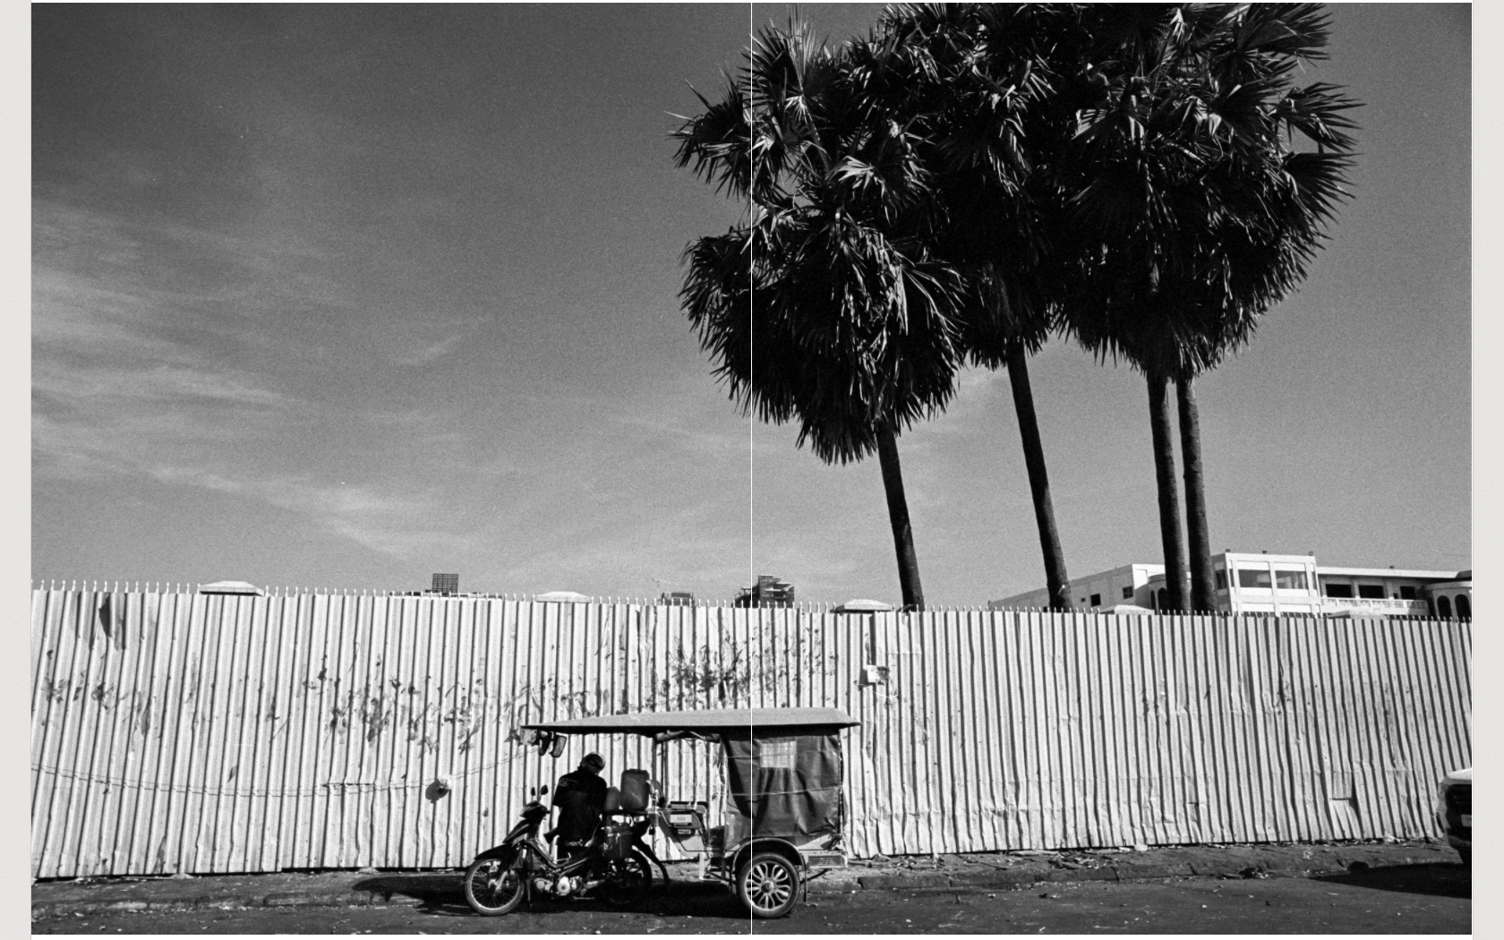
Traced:
[[[811, 895], [755, 932], [975, 934], [1466, 934], [1472, 884], [1460, 865], [1417, 865], [1325, 878], [1077, 883], [1042, 890], [957, 893], [863, 890]], [[477, 917], [456, 895], [424, 907], [260, 908], [182, 914], [50, 917], [36, 934], [744, 934], [746, 914], [720, 889], [675, 886], [642, 910], [540, 904]]]

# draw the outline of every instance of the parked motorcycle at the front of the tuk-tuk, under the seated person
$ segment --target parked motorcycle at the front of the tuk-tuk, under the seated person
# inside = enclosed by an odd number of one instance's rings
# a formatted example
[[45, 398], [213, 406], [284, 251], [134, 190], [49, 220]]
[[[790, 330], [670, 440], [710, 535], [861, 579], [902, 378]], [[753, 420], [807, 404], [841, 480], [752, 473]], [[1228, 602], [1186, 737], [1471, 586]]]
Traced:
[[[499, 916], [535, 896], [593, 896], [614, 907], [638, 901], [653, 883], [651, 850], [642, 835], [650, 820], [618, 820], [608, 812], [585, 848], [556, 862], [538, 839], [538, 827], [549, 818], [541, 797], [549, 791], [532, 788], [522, 818], [501, 845], [480, 853], [465, 869], [465, 901], [478, 914]], [[552, 833], [549, 833], [552, 836]]]

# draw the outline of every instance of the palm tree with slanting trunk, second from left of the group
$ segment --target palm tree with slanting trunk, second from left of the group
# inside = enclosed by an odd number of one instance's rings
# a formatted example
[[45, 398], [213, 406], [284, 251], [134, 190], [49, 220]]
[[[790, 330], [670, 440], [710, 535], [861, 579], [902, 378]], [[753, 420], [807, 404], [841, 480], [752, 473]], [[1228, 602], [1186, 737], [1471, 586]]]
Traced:
[[1027, 358], [1053, 331], [1048, 227], [1059, 217], [1035, 165], [1071, 117], [1054, 107], [1054, 63], [1078, 39], [1074, 15], [1038, 5], [889, 8], [853, 42], [862, 92], [914, 134], [932, 173], [932, 247], [969, 281], [961, 344], [1006, 368], [1024, 450], [1050, 606], [1069, 608]]

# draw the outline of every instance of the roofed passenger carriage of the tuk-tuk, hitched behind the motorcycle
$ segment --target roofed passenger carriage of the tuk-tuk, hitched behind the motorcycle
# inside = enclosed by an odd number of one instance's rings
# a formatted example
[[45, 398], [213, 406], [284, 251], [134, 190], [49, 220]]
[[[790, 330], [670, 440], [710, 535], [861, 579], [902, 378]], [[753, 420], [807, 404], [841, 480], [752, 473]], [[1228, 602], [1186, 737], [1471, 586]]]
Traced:
[[[531, 743], [540, 752], [555, 755], [570, 734], [650, 737], [656, 773], [624, 770], [621, 787], [608, 796], [608, 817], [623, 826], [635, 821], [638, 833], [656, 827], [680, 850], [698, 856], [699, 880], [726, 884], [754, 917], [782, 917], [794, 908], [812, 871], [847, 863], [841, 732], [859, 723], [839, 708], [719, 708], [522, 728], [532, 732]], [[686, 738], [722, 747], [720, 824], [710, 824], [707, 802], [675, 800], [660, 791], [657, 781], [668, 778], [668, 744]], [[662, 863], [659, 868], [666, 878], [668, 871]]]

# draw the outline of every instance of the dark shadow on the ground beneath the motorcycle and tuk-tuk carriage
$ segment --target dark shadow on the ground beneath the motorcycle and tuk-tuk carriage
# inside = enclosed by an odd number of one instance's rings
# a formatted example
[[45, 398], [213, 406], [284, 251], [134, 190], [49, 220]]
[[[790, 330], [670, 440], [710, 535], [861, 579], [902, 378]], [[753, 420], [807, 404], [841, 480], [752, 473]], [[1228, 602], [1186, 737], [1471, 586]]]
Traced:
[[[352, 884], [355, 890], [371, 892], [384, 898], [412, 898], [418, 901], [418, 910], [435, 916], [466, 916], [477, 917], [460, 887], [460, 877], [456, 874], [432, 875], [374, 875]], [[632, 911], [656, 916], [690, 916], [690, 917], [725, 917], [744, 922], [746, 908], [731, 890], [723, 884], [704, 881], [674, 880], [665, 884], [662, 878], [653, 881], [653, 887], [630, 907], [612, 907], [594, 898], [538, 898], [520, 908], [531, 914], [549, 916], [566, 911]]]

